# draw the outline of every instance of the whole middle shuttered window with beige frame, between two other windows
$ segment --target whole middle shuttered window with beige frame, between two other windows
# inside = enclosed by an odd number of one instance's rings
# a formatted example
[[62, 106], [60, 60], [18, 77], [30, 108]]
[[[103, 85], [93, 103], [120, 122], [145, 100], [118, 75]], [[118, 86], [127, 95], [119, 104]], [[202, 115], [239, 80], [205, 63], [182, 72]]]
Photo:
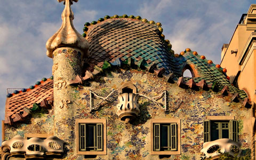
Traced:
[[180, 154], [180, 119], [151, 119], [151, 155]]

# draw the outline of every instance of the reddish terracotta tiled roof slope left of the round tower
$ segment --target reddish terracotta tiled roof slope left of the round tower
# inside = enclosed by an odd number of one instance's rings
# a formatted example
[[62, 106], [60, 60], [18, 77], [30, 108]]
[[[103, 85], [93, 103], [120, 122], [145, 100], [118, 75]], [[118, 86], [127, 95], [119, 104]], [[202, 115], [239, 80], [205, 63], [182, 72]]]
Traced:
[[45, 82], [41, 81], [39, 85], [35, 85], [34, 89], [27, 89], [25, 92], [20, 91], [17, 94], [13, 93], [11, 97], [6, 99], [4, 123], [11, 125], [13, 122], [23, 120], [30, 114], [31, 110], [36, 109], [34, 103], [47, 107], [51, 104], [52, 96], [53, 80], [50, 78]]

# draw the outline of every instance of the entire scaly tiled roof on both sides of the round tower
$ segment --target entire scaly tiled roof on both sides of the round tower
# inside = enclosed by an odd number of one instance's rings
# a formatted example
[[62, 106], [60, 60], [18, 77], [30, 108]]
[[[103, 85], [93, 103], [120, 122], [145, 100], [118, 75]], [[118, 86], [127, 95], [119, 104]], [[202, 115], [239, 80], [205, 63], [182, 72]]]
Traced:
[[[215, 65], [196, 51], [186, 49], [174, 54], [170, 41], [164, 39], [161, 23], [134, 17], [114, 15], [86, 22], [83, 37], [90, 43], [89, 57], [85, 57], [85, 77], [77, 77], [70, 84], [92, 81], [103, 71], [112, 67], [146, 69], [167, 82], [180, 87], [220, 91], [231, 96], [231, 101], [250, 106], [246, 92], [231, 85], [226, 69]], [[183, 71], [190, 69], [195, 77], [183, 77]], [[23, 121], [31, 111], [53, 105], [53, 77], [43, 78], [35, 86], [7, 95], [4, 123], [12, 125]]]

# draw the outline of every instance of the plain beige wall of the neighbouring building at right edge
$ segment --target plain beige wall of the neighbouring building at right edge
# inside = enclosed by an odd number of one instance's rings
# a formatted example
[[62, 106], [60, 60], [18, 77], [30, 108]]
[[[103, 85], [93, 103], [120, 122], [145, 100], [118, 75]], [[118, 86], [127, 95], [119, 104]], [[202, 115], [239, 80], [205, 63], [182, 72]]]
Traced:
[[[227, 69], [230, 83], [245, 90], [251, 101], [256, 100], [256, 77], [254, 66], [256, 63], [256, 5], [252, 4], [246, 17], [236, 26], [229, 44], [224, 44], [221, 52], [221, 67]], [[255, 44], [254, 44], [255, 43]], [[237, 79], [237, 80], [236, 80]]]

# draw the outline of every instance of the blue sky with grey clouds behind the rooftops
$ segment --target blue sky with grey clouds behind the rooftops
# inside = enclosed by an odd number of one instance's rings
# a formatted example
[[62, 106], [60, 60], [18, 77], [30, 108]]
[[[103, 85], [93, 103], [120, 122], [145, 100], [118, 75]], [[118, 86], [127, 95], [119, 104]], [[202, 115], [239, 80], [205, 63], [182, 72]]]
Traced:
[[[162, 23], [165, 39], [170, 40], [175, 53], [189, 47], [218, 64], [222, 44], [229, 43], [241, 15], [247, 13], [252, 3], [80, 0], [71, 8], [74, 26], [81, 34], [85, 22], [97, 21], [105, 15], [140, 15]], [[63, 8], [63, 3], [56, 0], [0, 1], [0, 119], [4, 119], [7, 88], [28, 88], [43, 77], [52, 76], [52, 59], [46, 56], [45, 44], [60, 28]]]

